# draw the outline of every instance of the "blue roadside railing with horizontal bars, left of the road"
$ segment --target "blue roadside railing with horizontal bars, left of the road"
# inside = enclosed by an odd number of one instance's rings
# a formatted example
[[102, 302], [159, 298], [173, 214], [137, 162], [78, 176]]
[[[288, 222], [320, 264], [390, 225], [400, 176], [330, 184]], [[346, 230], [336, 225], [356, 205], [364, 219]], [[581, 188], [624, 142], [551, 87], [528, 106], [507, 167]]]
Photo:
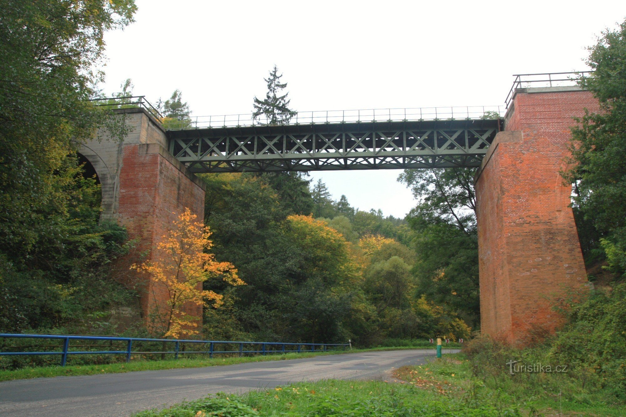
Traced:
[[[337, 343], [290, 343], [290, 342], [244, 342], [244, 341], [208, 341], [208, 340], [188, 340], [188, 339], [147, 339], [141, 337], [113, 337], [113, 336], [69, 336], [61, 334], [13, 334], [13, 333], [0, 333], [0, 338], [3, 342], [6, 339], [18, 338], [18, 339], [47, 339], [58, 340], [62, 344], [56, 347], [55, 350], [50, 351], [2, 351], [0, 356], [40, 356], [40, 355], [59, 355], [61, 356], [61, 366], [65, 366], [69, 355], [85, 355], [85, 354], [110, 354], [110, 355], [123, 355], [126, 358], [126, 362], [129, 362], [133, 355], [138, 354], [173, 354], [175, 359], [178, 359], [180, 354], [205, 354], [209, 358], [213, 358], [215, 354], [235, 354], [244, 356], [244, 354], [272, 354], [272, 353], [302, 353], [302, 352], [319, 352], [327, 351], [328, 348], [337, 348], [351, 346], [349, 343], [337, 344]], [[79, 345], [72, 346], [70, 341], [108, 341], [108, 345], [104, 345], [109, 348], [108, 350], [98, 350], [96, 348], [102, 348], [103, 345]], [[114, 342], [123, 342], [122, 346], [115, 348]], [[141, 344], [143, 342], [143, 344]], [[147, 342], [147, 343], [146, 343]], [[160, 351], [143, 351], [137, 348], [155, 346], [154, 342], [163, 343], [163, 348], [169, 344], [170, 349], [162, 349]], [[3, 343], [4, 345], [4, 343]], [[195, 349], [187, 350], [187, 347], [191, 345]], [[233, 346], [234, 349], [228, 350], [228, 347]], [[41, 348], [41, 345], [28, 346], [29, 349]], [[43, 346], [44, 348], [50, 348], [49, 344]], [[24, 346], [14, 346], [13, 349], [23, 349]], [[82, 350], [76, 350], [81, 348]], [[87, 348], [88, 350], [85, 350]], [[4, 348], [6, 349], [6, 348]], [[3, 349], [3, 350], [4, 350]], [[11, 348], [9, 348], [11, 349]], [[93, 350], [96, 349], [96, 350]], [[134, 349], [134, 350], [133, 350]]]

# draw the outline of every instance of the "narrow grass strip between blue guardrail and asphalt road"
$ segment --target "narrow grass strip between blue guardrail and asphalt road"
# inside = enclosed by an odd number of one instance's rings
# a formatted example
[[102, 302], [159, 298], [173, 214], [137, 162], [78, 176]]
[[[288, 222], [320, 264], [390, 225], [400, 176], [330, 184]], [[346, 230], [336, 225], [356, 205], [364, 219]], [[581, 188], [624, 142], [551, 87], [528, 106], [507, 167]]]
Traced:
[[213, 359], [178, 359], [165, 361], [145, 361], [133, 360], [129, 363], [112, 363], [101, 365], [74, 365], [74, 366], [42, 366], [37, 368], [21, 368], [15, 370], [0, 371], [0, 381], [10, 381], [13, 379], [30, 379], [43, 378], [53, 376], [78, 376], [78, 375], [95, 375], [109, 373], [123, 373], [133, 371], [159, 371], [162, 369], [178, 369], [178, 368], [203, 368], [205, 366], [232, 365], [237, 363], [261, 362], [261, 361], [280, 361], [285, 359], [301, 359], [312, 358], [313, 356], [343, 354], [343, 353], [359, 353], [369, 351], [389, 351], [404, 349], [421, 349], [413, 347], [399, 348], [372, 348], [372, 349], [352, 349], [347, 351], [327, 351], [319, 353], [286, 353], [272, 354], [268, 356], [239, 356], [217, 357]]

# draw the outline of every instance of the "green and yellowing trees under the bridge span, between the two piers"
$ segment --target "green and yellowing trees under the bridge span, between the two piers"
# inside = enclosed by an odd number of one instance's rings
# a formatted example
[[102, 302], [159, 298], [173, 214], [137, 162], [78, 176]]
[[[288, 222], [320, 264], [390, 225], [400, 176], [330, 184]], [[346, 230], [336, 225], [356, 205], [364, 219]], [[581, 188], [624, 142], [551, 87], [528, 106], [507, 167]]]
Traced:
[[[410, 231], [401, 220], [380, 212], [354, 214], [345, 197], [332, 202], [321, 182], [302, 201], [316, 202], [331, 219], [293, 214], [265, 175], [202, 178], [215, 254], [237, 265], [248, 284], [205, 288], [225, 296], [219, 311], [205, 311], [205, 336], [352, 339], [359, 346], [375, 346], [385, 337], [469, 335], [455, 314], [414, 294], [410, 270], [416, 255], [391, 239], [408, 240]], [[367, 235], [374, 246], [366, 253], [359, 247], [359, 234], [372, 230], [388, 237]]]

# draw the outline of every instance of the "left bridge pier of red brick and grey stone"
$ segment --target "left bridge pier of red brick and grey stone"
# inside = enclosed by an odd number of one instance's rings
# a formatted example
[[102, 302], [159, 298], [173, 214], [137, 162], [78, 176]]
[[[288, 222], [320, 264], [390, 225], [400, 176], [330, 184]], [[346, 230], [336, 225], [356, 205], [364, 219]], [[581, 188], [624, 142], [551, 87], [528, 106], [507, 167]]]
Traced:
[[[167, 290], [150, 277], [131, 272], [129, 267], [141, 253], [148, 260], [161, 254], [156, 246], [167, 234], [177, 215], [189, 208], [204, 217], [202, 182], [165, 150], [165, 131], [141, 108], [118, 110], [124, 115], [130, 132], [123, 140], [100, 131], [101, 140], [93, 138], [81, 145], [85, 156], [98, 173], [102, 189], [102, 219], [116, 220], [128, 229], [137, 250], [116, 263], [116, 275], [141, 292], [141, 310], [146, 319], [156, 304], [168, 299]], [[186, 306], [186, 311], [202, 317], [202, 308]]]

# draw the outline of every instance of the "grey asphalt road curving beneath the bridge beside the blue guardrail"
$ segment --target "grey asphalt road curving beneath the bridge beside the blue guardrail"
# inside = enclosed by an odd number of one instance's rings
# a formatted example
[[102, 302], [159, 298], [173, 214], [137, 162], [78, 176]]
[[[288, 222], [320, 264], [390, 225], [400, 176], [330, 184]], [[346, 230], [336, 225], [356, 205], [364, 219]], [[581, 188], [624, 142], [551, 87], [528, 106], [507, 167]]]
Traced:
[[[446, 349], [448, 351], [448, 349]], [[389, 371], [421, 364], [434, 349], [318, 356], [208, 368], [58, 376], [0, 383], [0, 415], [127, 416], [207, 394], [319, 379], [386, 379]]]

